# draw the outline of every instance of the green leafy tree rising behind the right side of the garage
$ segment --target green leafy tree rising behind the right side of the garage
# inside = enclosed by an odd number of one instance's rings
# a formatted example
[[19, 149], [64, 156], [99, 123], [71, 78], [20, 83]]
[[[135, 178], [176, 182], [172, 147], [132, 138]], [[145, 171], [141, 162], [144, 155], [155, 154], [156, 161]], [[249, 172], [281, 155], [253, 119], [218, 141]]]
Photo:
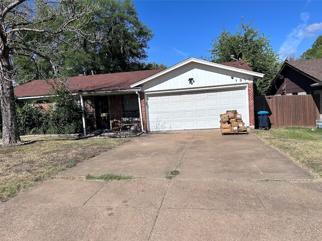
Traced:
[[240, 29], [236, 28], [236, 33], [232, 34], [223, 28], [221, 34], [213, 39], [213, 49], [210, 61], [223, 63], [235, 61], [230, 56], [237, 58], [241, 52], [243, 60], [255, 71], [264, 73], [264, 78], [255, 80], [255, 95], [267, 94], [271, 82], [278, 69], [277, 55], [274, 53], [268, 37], [259, 34], [259, 30], [253, 28], [252, 22], [245, 25], [241, 18]]

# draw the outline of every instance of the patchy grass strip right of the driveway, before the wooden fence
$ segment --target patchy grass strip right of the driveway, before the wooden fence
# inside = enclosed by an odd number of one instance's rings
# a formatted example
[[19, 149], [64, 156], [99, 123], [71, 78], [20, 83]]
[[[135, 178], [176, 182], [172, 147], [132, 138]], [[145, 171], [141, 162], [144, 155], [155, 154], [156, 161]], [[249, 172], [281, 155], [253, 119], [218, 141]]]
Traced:
[[278, 128], [253, 133], [322, 178], [322, 129]]

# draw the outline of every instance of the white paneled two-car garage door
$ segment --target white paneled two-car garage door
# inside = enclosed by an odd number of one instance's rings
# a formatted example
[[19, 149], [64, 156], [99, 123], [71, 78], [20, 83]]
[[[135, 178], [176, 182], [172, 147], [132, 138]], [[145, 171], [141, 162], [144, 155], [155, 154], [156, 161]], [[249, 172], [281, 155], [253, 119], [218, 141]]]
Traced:
[[236, 109], [248, 124], [246, 88], [147, 96], [150, 131], [215, 129], [219, 114]]

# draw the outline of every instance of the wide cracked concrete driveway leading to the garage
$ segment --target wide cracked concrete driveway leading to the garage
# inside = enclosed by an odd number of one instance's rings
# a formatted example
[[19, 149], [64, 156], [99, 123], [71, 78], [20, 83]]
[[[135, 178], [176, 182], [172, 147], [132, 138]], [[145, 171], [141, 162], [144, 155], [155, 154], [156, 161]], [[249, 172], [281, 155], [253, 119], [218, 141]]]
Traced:
[[[142, 178], [82, 179], [106, 173]], [[320, 240], [321, 210], [321, 182], [252, 133], [148, 133], [0, 204], [0, 236]]]

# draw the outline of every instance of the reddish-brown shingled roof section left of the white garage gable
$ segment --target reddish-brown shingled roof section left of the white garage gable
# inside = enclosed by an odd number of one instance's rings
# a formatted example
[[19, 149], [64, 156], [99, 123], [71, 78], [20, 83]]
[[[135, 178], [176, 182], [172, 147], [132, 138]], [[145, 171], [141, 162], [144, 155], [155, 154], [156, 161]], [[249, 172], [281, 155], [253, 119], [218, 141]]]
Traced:
[[[73, 93], [118, 91], [131, 89], [130, 85], [164, 69], [141, 70], [111, 74], [75, 76], [67, 78], [69, 89]], [[53, 82], [53, 80], [49, 80]], [[46, 80], [34, 80], [14, 89], [17, 97], [43, 96], [50, 92], [51, 85]]]

